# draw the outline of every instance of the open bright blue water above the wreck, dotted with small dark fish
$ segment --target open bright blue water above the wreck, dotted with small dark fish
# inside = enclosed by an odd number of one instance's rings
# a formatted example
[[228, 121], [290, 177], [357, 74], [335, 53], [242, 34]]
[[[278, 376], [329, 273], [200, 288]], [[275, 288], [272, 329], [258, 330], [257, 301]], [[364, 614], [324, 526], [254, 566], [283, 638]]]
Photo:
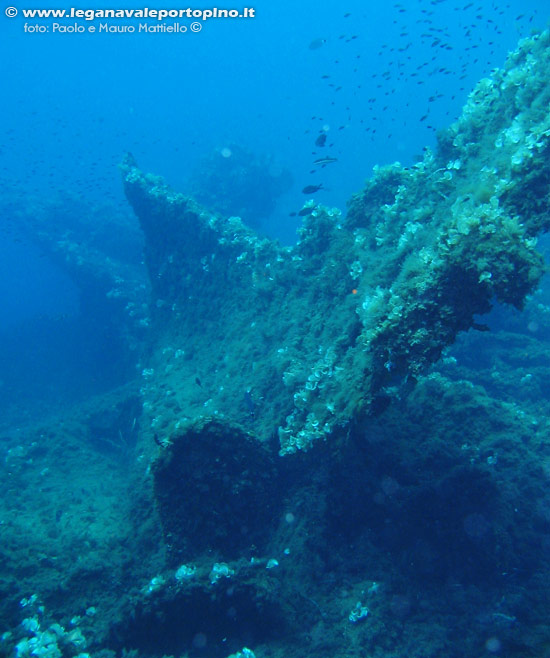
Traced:
[[[339, 158], [323, 172], [325, 200], [343, 206], [374, 164], [410, 162], [433, 145], [429, 126], [458, 115], [518, 38], [545, 25], [545, 6], [262, 1], [253, 19], [211, 19], [185, 35], [25, 34], [25, 19], [2, 17], [0, 172], [22, 192], [69, 188], [124, 203], [116, 165], [125, 151], [181, 187], [205, 151], [238, 142], [295, 177], [272, 218], [276, 234], [309, 181], [322, 125]], [[326, 43], [309, 49], [317, 39]]]

